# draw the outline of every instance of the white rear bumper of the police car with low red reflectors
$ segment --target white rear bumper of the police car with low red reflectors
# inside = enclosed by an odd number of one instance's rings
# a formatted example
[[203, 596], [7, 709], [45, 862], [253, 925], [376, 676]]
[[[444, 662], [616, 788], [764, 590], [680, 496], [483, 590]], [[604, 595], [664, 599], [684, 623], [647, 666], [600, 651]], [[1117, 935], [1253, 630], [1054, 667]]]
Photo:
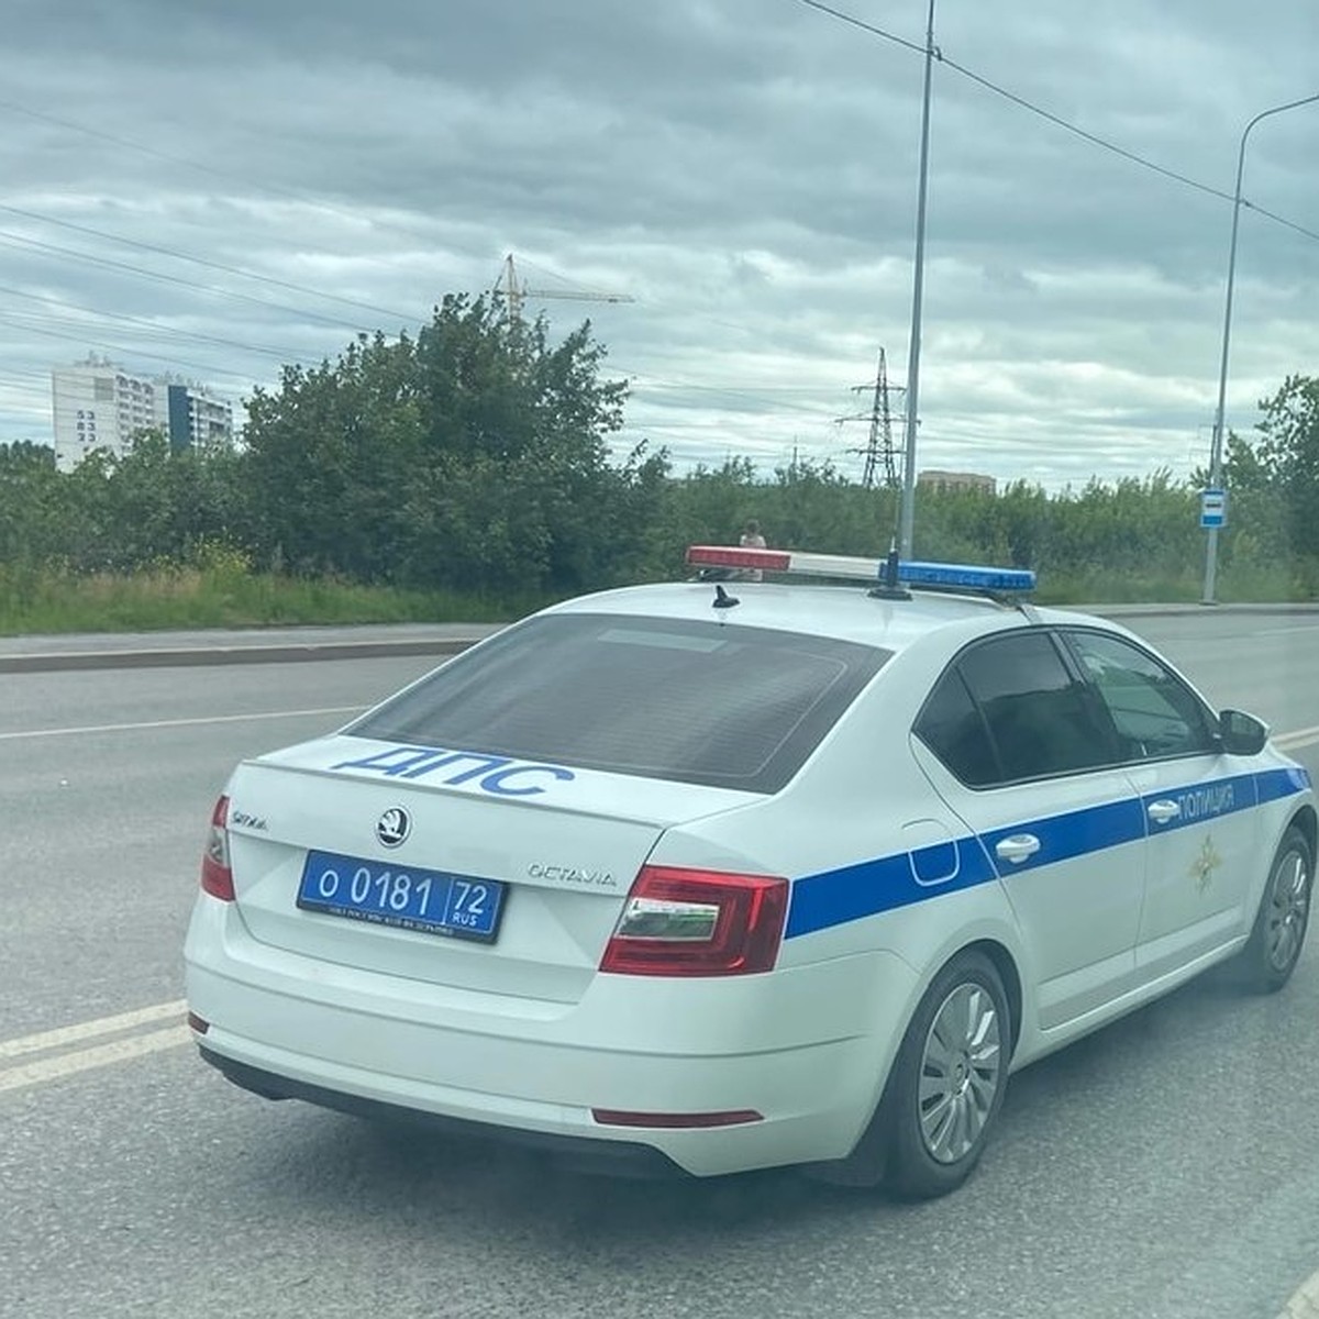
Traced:
[[[641, 1148], [698, 1177], [844, 1158], [914, 985], [901, 959], [865, 954], [719, 980], [600, 975], [575, 1004], [512, 998], [272, 948], [208, 897], [185, 958], [189, 1006], [210, 1024], [198, 1042], [249, 1089], [566, 1151], [616, 1145], [624, 1165]], [[624, 1126], [592, 1109], [761, 1120]]]

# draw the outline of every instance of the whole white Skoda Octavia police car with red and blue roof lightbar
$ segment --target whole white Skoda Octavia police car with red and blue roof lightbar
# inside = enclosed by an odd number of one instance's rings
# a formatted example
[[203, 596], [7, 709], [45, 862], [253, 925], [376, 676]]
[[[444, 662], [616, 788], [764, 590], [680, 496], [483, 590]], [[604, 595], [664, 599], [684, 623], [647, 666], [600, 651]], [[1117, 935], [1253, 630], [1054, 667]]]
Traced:
[[240, 765], [187, 935], [207, 1062], [638, 1169], [936, 1195], [1010, 1070], [1229, 958], [1287, 980], [1315, 802], [1261, 723], [1119, 627], [968, 594], [1030, 574], [690, 561], [871, 588], [574, 600]]

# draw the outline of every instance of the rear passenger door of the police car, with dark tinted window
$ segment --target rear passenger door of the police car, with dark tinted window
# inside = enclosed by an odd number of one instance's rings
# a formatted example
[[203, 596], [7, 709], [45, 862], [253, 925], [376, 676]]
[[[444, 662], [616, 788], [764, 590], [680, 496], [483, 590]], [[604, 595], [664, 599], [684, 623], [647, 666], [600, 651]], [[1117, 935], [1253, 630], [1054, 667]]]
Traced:
[[1041, 1029], [1134, 984], [1141, 803], [1112, 729], [1045, 628], [976, 642], [915, 724], [915, 754], [973, 832], [1020, 922]]

